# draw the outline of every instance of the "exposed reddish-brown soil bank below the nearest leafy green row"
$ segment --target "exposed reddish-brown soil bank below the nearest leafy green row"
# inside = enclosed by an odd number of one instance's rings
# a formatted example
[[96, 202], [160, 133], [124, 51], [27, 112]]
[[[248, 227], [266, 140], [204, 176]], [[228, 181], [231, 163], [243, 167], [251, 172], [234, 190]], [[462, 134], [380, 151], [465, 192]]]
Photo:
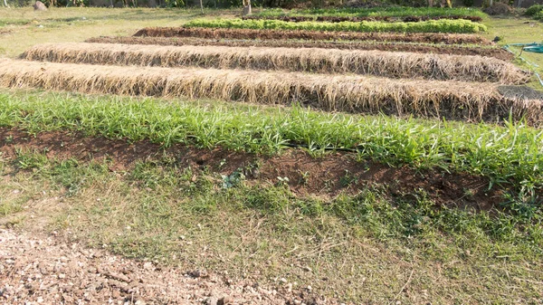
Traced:
[[[7, 141], [6, 139], [9, 139]], [[76, 158], [82, 161], [107, 158], [111, 171], [124, 171], [138, 160], [163, 156], [159, 145], [141, 141], [85, 137], [66, 132], [42, 132], [35, 137], [24, 131], [0, 129], [0, 152], [5, 158], [16, 156], [17, 149], [46, 152], [48, 157]], [[332, 198], [340, 193], [356, 195], [366, 187], [380, 187], [391, 197], [407, 200], [417, 190], [426, 192], [436, 205], [472, 207], [475, 210], [498, 208], [507, 186], [493, 186], [483, 176], [389, 167], [374, 161], [359, 162], [353, 153], [330, 152], [311, 157], [301, 149], [286, 149], [278, 156], [257, 156], [224, 148], [199, 149], [182, 145], [167, 148], [179, 167], [192, 167], [221, 175], [242, 170], [247, 183], [275, 184], [278, 176], [288, 177], [296, 195]], [[224, 164], [224, 160], [226, 161]], [[255, 166], [258, 165], [258, 166]]]

